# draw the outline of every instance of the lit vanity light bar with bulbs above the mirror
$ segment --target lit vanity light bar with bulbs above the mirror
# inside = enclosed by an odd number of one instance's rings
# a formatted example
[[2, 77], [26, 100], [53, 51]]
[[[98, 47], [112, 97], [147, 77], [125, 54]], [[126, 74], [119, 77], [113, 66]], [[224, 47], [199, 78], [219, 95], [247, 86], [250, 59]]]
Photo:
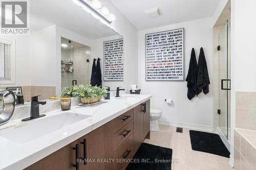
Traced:
[[116, 16], [112, 13], [109, 14], [108, 8], [101, 7], [98, 0], [73, 0], [73, 2], [104, 24], [116, 20]]

